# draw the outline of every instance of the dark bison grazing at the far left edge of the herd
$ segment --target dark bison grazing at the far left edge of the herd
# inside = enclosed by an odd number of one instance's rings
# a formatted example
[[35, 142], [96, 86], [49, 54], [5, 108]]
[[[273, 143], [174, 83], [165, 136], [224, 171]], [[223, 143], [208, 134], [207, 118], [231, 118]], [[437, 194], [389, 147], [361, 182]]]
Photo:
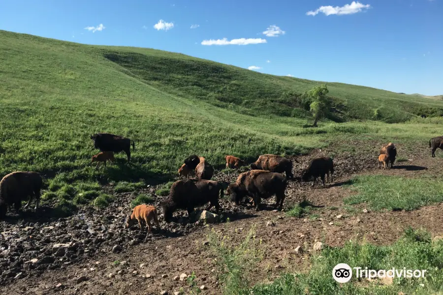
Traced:
[[17, 171], [3, 177], [0, 181], [0, 218], [6, 215], [7, 207], [14, 205], [18, 212], [22, 206], [22, 201], [29, 197], [29, 207], [35, 198], [35, 210], [40, 202], [40, 190], [43, 185], [41, 176], [37, 172]]

